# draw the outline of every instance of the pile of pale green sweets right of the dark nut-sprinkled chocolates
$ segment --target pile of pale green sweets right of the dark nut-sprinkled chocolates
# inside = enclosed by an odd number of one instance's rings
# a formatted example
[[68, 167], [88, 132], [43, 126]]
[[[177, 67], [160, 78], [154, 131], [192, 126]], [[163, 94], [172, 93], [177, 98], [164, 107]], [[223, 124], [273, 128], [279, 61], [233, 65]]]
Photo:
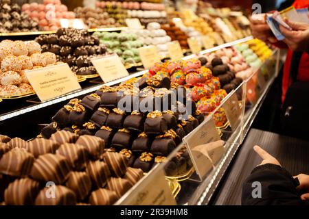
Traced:
[[139, 64], [141, 58], [139, 57], [139, 47], [144, 46], [144, 42], [137, 40], [137, 35], [133, 31], [117, 32], [95, 32], [93, 36], [98, 37], [102, 44], [113, 53], [121, 58], [126, 65]]

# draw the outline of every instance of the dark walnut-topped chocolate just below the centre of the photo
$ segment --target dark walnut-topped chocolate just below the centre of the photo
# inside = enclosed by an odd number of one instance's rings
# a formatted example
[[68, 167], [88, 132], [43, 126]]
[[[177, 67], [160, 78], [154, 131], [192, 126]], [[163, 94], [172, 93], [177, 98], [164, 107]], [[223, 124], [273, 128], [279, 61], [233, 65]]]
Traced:
[[144, 130], [147, 135], [165, 133], [168, 131], [168, 123], [161, 112], [150, 112], [145, 120]]

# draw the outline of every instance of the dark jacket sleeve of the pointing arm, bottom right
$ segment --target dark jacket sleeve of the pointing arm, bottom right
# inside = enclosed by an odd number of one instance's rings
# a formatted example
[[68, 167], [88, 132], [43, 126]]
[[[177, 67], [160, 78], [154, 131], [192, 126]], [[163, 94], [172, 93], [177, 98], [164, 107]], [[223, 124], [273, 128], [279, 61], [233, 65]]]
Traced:
[[309, 201], [301, 200], [298, 185], [298, 179], [280, 166], [257, 166], [242, 185], [242, 205], [309, 205]]

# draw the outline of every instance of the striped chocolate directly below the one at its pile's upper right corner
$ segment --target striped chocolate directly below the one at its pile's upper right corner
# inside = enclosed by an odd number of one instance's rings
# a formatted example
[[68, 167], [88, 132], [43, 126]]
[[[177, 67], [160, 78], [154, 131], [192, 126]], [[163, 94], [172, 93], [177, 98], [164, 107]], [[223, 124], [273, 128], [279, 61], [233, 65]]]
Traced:
[[111, 176], [108, 166], [99, 160], [89, 162], [86, 168], [87, 175], [89, 175], [93, 188], [102, 188], [106, 185], [106, 180]]

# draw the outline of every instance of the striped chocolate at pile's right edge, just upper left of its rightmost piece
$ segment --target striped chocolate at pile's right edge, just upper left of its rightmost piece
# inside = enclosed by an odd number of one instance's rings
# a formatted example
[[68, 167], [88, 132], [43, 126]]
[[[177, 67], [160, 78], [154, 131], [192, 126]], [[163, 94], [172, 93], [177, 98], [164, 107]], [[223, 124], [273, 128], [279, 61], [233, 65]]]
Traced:
[[126, 156], [119, 153], [106, 152], [103, 157], [113, 176], [124, 176], [126, 168], [128, 167], [128, 159], [126, 159]]

